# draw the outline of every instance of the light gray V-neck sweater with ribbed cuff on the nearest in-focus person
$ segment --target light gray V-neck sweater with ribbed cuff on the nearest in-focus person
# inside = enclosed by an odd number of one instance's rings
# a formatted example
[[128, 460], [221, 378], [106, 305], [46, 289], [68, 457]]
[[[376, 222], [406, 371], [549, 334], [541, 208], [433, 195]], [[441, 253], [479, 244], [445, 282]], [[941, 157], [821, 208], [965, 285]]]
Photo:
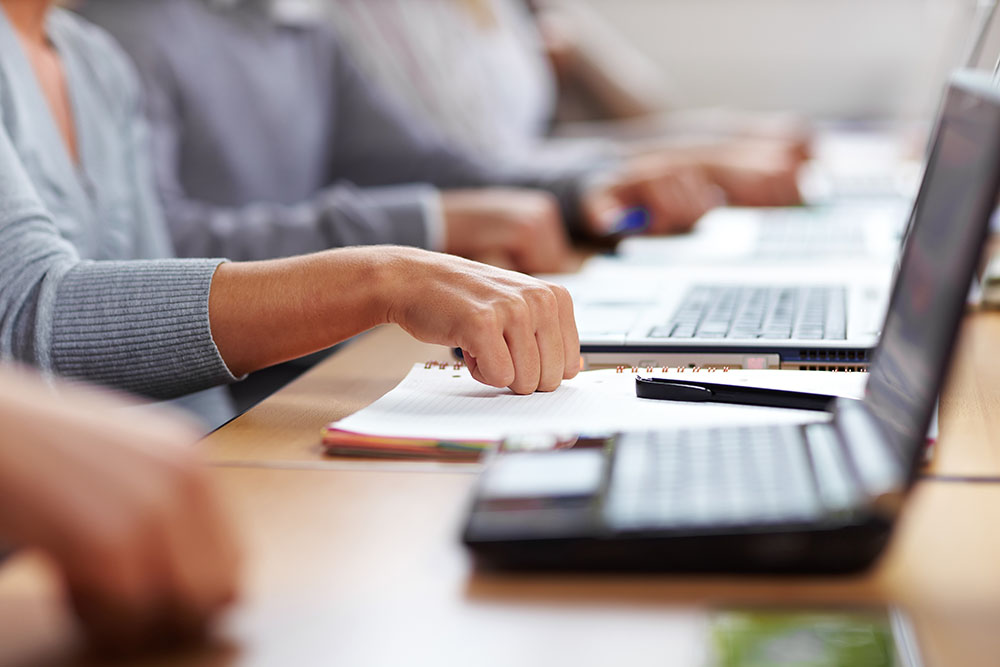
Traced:
[[[208, 319], [221, 260], [172, 258], [131, 65], [67, 12], [48, 32], [80, 164], [0, 11], [0, 357], [161, 399], [232, 381]], [[218, 393], [200, 403], [224, 416]]]

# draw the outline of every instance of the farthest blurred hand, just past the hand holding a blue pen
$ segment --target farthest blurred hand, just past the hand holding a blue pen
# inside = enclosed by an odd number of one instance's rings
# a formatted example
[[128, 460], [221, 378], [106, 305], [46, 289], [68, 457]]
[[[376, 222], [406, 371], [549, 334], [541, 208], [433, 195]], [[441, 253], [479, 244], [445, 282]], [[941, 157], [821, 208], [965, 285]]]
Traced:
[[720, 146], [704, 161], [706, 171], [736, 206], [802, 203], [795, 148], [784, 142], [739, 141]]

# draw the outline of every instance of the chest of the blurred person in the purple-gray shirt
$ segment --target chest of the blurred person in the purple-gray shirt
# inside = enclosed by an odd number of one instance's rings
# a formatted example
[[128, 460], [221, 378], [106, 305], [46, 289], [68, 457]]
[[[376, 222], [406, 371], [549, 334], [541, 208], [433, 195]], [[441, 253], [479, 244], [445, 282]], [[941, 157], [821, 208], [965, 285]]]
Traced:
[[185, 191], [219, 205], [294, 203], [327, 184], [336, 73], [321, 45], [294, 28], [209, 17], [174, 51]]

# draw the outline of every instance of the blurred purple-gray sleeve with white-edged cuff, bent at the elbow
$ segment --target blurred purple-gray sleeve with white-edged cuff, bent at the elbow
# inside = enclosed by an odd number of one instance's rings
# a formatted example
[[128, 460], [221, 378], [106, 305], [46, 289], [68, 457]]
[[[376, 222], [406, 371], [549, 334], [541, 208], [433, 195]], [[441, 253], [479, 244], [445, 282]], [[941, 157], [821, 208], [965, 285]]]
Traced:
[[156, 53], [131, 50], [145, 83], [157, 190], [179, 255], [256, 260], [351, 245], [430, 247], [425, 219], [425, 199], [433, 192], [429, 186], [369, 193], [334, 183], [294, 205], [231, 207], [189, 196], [179, 171], [184, 120], [172, 99], [174, 73]]

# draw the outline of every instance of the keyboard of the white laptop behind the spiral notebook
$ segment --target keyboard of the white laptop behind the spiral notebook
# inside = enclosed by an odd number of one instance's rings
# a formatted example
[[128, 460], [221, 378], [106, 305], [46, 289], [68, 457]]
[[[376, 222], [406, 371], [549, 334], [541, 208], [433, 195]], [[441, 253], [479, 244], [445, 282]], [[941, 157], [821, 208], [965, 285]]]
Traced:
[[844, 340], [843, 287], [692, 287], [651, 338]]

